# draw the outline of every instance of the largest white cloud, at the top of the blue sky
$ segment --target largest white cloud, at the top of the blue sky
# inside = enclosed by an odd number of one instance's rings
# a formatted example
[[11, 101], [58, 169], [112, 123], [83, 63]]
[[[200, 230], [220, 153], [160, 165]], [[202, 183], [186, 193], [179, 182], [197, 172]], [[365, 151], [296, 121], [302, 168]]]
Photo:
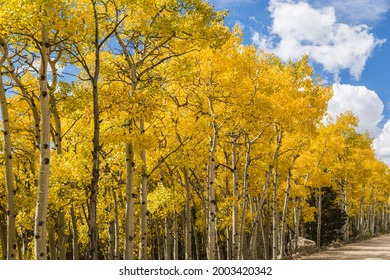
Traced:
[[332, 6], [314, 8], [302, 1], [270, 0], [269, 11], [270, 35], [253, 32], [253, 43], [284, 60], [308, 54], [336, 80], [341, 70], [349, 70], [358, 80], [374, 48], [385, 42], [375, 38], [367, 25], [338, 22]]

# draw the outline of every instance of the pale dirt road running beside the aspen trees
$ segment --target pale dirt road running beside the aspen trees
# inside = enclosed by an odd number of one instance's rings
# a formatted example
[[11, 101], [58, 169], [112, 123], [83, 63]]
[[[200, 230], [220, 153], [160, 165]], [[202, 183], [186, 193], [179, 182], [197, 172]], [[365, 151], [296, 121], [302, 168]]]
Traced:
[[309, 254], [296, 254], [296, 260], [390, 260], [390, 234], [340, 246], [330, 246]]

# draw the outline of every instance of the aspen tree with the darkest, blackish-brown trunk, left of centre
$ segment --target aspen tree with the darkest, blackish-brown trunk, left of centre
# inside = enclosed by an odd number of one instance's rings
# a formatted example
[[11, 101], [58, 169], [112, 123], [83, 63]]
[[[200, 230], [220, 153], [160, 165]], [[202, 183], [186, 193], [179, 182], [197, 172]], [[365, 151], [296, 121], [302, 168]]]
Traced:
[[[83, 3], [80, 3], [81, 6]], [[92, 103], [93, 103], [93, 150], [92, 150], [92, 172], [91, 172], [91, 185], [90, 185], [90, 197], [89, 197], [89, 210], [88, 210], [88, 226], [89, 226], [89, 253], [88, 258], [97, 260], [99, 258], [98, 248], [98, 228], [97, 228], [97, 195], [99, 189], [99, 177], [100, 177], [100, 158], [99, 153], [101, 151], [100, 143], [100, 109], [99, 109], [99, 79], [100, 79], [100, 66], [101, 66], [101, 51], [105, 46], [107, 40], [109, 40], [116, 32], [118, 26], [124, 20], [125, 16], [122, 16], [118, 10], [112, 8], [114, 11], [109, 14], [109, 7], [115, 6], [112, 1], [91, 1], [87, 4], [89, 6], [89, 12], [92, 14], [90, 20], [91, 34], [86, 34], [88, 41], [91, 42], [89, 46], [85, 46], [84, 42], [76, 40], [67, 52], [74, 57], [85, 70], [88, 80], [92, 86]], [[100, 10], [104, 7], [106, 10], [105, 16], [109, 19], [102, 23], [102, 17], [99, 15]], [[81, 7], [80, 7], [81, 8]], [[86, 52], [85, 49], [87, 48]], [[91, 53], [89, 52], [91, 50]], [[88, 62], [88, 55], [93, 56], [92, 65]]]

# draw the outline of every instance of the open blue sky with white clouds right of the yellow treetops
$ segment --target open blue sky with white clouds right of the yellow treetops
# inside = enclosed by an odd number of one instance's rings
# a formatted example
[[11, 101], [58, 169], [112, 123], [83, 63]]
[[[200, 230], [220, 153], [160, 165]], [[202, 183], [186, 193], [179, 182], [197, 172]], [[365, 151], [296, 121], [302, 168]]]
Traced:
[[244, 43], [284, 60], [308, 54], [333, 86], [331, 116], [351, 110], [390, 166], [390, 0], [209, 0]]

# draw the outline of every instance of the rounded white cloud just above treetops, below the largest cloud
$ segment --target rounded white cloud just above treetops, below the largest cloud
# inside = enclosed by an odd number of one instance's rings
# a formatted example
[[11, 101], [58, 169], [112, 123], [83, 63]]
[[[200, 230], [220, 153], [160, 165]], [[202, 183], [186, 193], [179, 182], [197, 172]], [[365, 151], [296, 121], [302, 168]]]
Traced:
[[352, 111], [359, 118], [359, 132], [369, 131], [373, 137], [381, 133], [379, 123], [383, 120], [384, 105], [374, 91], [364, 86], [334, 84], [333, 93], [328, 103], [328, 113], [333, 118], [340, 113]]

